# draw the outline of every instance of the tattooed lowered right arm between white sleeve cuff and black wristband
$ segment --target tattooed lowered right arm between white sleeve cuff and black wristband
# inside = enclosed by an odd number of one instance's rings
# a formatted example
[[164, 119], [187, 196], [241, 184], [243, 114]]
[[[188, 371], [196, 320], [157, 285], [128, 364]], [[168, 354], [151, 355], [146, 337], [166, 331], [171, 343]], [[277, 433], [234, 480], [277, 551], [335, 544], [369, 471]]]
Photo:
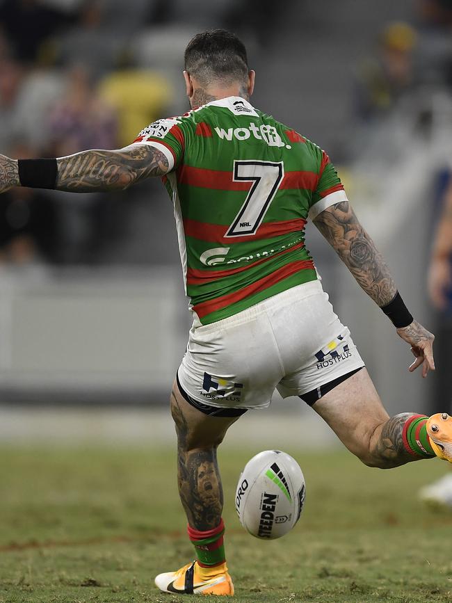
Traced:
[[385, 260], [360, 225], [348, 201], [321, 211], [314, 219], [314, 224], [366, 294], [380, 307], [387, 305], [396, 295], [396, 284]]

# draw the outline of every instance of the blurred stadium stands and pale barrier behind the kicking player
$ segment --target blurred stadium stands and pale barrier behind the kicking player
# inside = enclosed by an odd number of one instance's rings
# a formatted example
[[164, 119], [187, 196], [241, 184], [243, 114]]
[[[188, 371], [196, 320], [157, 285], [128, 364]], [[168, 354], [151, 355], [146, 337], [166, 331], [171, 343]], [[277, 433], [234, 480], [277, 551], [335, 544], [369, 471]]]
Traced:
[[[184, 112], [184, 47], [218, 26], [248, 46], [253, 104], [327, 150], [412, 313], [445, 328], [426, 271], [452, 161], [450, 0], [0, 1], [1, 152], [115, 148]], [[437, 375], [410, 376], [405, 344], [314, 231], [324, 287], [389, 412], [444, 410], [446, 352]], [[0, 442], [172, 441], [189, 321], [160, 182], [1, 195]], [[334, 442], [297, 400], [248, 415], [237, 441]]]

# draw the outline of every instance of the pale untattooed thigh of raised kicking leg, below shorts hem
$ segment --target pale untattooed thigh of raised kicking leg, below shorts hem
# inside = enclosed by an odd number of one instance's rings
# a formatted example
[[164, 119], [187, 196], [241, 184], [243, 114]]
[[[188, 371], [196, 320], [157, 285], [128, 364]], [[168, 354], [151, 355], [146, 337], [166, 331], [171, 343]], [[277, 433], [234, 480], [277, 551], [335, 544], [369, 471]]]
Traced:
[[373, 433], [389, 419], [365, 368], [331, 389], [312, 408], [364, 463]]

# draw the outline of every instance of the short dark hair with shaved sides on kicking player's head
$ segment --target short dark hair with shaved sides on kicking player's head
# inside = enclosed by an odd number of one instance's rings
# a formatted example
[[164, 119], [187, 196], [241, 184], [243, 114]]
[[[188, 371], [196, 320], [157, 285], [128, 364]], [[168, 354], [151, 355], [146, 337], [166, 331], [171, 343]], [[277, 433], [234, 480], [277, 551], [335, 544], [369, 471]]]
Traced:
[[228, 85], [248, 78], [248, 57], [245, 45], [226, 29], [197, 33], [185, 50], [185, 69], [202, 86], [211, 81]]

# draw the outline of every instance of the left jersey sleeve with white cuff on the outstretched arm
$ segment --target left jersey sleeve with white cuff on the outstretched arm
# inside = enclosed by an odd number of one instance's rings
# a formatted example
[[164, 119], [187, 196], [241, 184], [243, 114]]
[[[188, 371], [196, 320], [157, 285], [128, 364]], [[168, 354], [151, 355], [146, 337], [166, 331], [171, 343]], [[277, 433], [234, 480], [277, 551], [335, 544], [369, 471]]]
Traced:
[[135, 145], [150, 145], [161, 151], [168, 159], [168, 172], [179, 166], [185, 150], [184, 124], [179, 118], [152, 122], [134, 140]]

